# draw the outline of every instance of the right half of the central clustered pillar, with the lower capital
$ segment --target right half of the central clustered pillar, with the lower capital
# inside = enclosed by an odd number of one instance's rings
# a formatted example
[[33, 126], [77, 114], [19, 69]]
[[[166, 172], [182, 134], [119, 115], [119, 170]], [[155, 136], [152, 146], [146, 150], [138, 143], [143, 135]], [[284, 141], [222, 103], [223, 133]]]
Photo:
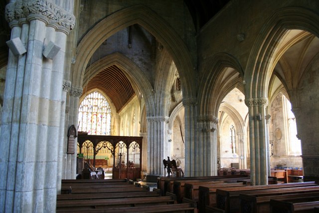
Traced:
[[196, 176], [217, 175], [217, 131], [218, 118], [199, 116], [196, 142]]

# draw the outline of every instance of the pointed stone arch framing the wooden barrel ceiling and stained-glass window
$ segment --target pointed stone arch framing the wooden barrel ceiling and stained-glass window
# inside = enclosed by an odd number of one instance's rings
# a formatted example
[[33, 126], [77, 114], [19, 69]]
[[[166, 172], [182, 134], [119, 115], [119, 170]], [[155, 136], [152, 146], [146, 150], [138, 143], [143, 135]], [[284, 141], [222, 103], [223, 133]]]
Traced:
[[[154, 98], [152, 94], [152, 85], [143, 74], [142, 70], [136, 65], [131, 59], [125, 55], [115, 52], [107, 55], [100, 60], [94, 62], [91, 67], [87, 67], [86, 70], [90, 69], [90, 72], [86, 71], [83, 76], [83, 85], [85, 85], [90, 78], [101, 72], [105, 67], [117, 65], [122, 68], [133, 85], [134, 89], [139, 89], [145, 97], [146, 107], [149, 114], [153, 115], [155, 108]], [[140, 101], [141, 102], [141, 101]]]

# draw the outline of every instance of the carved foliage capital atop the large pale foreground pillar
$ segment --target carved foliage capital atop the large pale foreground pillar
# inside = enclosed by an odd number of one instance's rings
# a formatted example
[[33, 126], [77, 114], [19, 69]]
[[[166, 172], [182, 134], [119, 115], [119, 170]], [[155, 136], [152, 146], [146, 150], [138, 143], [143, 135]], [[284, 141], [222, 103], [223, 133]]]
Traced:
[[50, 0], [17, 0], [5, 6], [5, 19], [10, 27], [25, 20], [40, 19], [66, 34], [75, 26], [75, 16]]

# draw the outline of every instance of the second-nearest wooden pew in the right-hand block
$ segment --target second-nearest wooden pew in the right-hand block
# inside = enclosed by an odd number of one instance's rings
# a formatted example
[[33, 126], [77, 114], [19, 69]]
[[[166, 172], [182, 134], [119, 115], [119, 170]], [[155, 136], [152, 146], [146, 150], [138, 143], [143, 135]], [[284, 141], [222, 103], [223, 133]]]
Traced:
[[303, 192], [284, 195], [263, 195], [262, 193], [241, 194], [240, 213], [270, 213], [270, 200], [301, 203], [319, 201], [319, 192]]

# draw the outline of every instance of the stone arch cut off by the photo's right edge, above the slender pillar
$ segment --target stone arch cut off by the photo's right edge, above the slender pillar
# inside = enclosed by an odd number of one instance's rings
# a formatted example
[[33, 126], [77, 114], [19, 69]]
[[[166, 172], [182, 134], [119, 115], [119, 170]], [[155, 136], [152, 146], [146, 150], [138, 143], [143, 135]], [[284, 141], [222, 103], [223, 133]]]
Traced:
[[[267, 97], [269, 81], [279, 54], [276, 52], [279, 41], [291, 29], [300, 29], [319, 37], [318, 14], [302, 7], [280, 8], [270, 15], [264, 24], [251, 50], [247, 64], [245, 81], [246, 98]], [[257, 82], [257, 84], [256, 84]]]

